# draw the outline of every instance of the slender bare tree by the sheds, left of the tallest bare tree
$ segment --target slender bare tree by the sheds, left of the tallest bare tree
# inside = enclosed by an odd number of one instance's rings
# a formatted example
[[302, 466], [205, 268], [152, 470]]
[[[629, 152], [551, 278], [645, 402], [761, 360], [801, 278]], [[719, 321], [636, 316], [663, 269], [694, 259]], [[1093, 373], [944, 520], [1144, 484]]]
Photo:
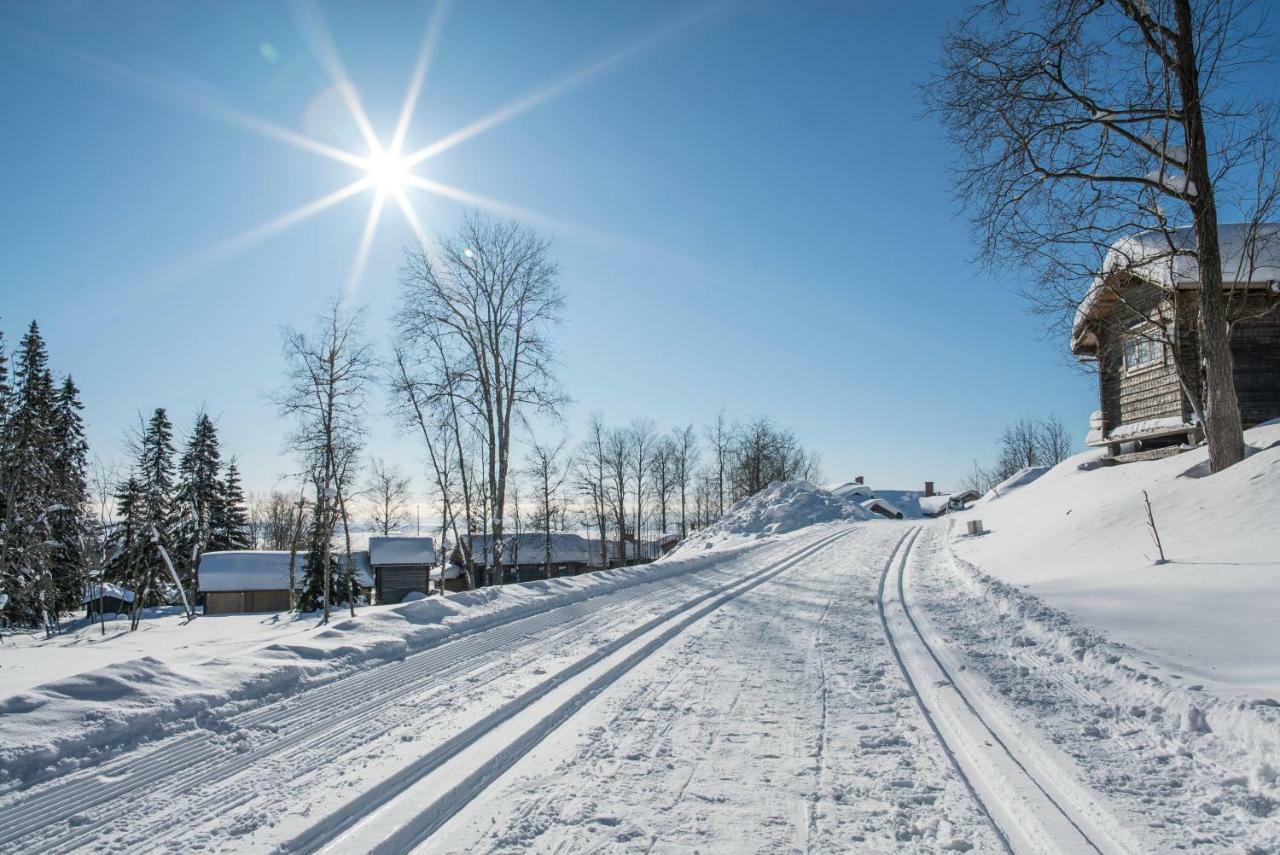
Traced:
[[[365, 398], [374, 379], [372, 349], [364, 339], [361, 314], [334, 300], [316, 319], [315, 329], [284, 330], [288, 364], [284, 389], [275, 403], [294, 429], [289, 447], [315, 474], [316, 508], [321, 538], [324, 622], [329, 622], [332, 586], [330, 547], [344, 488], [355, 472], [349, 457], [364, 439]], [[317, 572], [310, 568], [311, 573]]]

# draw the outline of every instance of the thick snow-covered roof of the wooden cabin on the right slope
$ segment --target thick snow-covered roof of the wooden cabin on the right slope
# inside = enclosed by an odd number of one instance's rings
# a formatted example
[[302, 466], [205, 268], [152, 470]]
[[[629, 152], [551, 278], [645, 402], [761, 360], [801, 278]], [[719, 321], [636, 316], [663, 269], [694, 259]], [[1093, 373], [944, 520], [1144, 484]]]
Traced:
[[[1229, 223], [1217, 229], [1222, 255], [1224, 284], [1271, 284], [1280, 282], [1280, 223]], [[1199, 282], [1196, 230], [1151, 229], [1120, 238], [1107, 250], [1102, 269], [1093, 279], [1071, 324], [1073, 349], [1085, 324], [1108, 293], [1107, 278], [1126, 271], [1162, 288], [1190, 288]]]

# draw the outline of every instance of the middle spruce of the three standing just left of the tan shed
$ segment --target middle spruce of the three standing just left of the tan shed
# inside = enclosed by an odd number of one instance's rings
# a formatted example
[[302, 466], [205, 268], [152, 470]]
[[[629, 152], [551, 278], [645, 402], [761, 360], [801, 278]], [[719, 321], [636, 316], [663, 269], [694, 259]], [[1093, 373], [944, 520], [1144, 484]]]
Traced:
[[202, 412], [196, 417], [196, 426], [178, 462], [173, 559], [188, 591], [196, 590], [196, 566], [201, 553], [218, 548], [211, 541], [223, 493], [218, 480], [220, 467], [218, 430]]

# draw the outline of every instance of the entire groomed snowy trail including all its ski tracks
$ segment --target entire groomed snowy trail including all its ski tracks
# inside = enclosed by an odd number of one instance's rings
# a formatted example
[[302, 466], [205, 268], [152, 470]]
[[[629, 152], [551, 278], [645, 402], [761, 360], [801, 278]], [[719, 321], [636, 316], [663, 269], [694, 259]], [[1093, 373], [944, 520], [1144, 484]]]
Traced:
[[[1098, 742], [1114, 715], [1098, 687], [1074, 682], [1070, 657], [1028, 658], [998, 635], [1005, 618], [957, 586], [947, 536], [941, 521], [812, 525], [209, 709], [0, 794], [0, 850], [1110, 854], [1267, 840], [1268, 814], [1203, 776], [1185, 788], [1216, 813], [1188, 837], [1176, 787], [1134, 786], [1178, 774], [1165, 731]], [[1187, 746], [1172, 762], [1184, 777], [1198, 768]]]

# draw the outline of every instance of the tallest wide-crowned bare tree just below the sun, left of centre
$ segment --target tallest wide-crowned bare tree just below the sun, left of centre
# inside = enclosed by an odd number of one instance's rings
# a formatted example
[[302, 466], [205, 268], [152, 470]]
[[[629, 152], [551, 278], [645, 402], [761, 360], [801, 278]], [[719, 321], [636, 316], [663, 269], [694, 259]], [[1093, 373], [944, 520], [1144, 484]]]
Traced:
[[513, 419], [557, 412], [552, 330], [563, 296], [545, 239], [516, 223], [470, 212], [433, 252], [415, 247], [402, 269], [401, 340], [420, 358], [447, 362], [456, 401], [472, 411], [484, 440], [484, 486], [500, 564]]

